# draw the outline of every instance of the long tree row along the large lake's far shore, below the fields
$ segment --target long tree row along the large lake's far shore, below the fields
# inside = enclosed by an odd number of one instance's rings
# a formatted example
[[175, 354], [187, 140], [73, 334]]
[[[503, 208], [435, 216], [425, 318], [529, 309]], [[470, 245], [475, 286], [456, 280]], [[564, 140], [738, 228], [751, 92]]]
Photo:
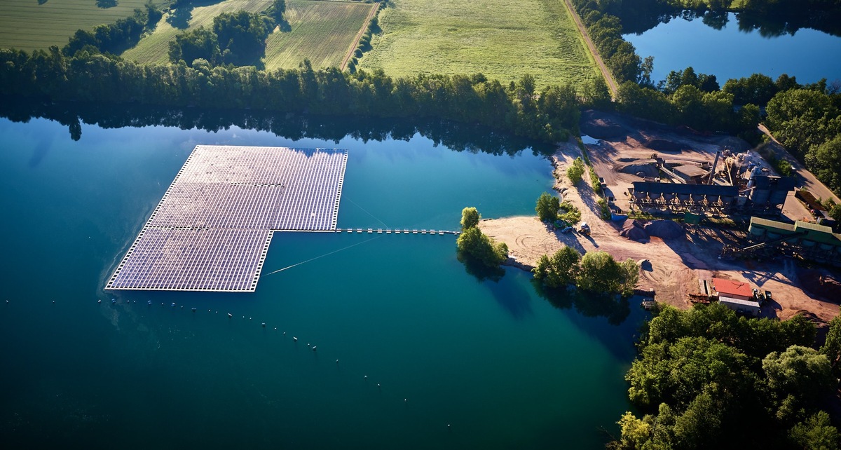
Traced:
[[336, 67], [261, 71], [254, 66], [145, 66], [82, 49], [0, 50], [0, 95], [46, 101], [262, 109], [275, 113], [435, 118], [553, 142], [578, 126], [574, 87], [537, 91], [534, 78], [503, 86], [481, 74], [392, 78]]

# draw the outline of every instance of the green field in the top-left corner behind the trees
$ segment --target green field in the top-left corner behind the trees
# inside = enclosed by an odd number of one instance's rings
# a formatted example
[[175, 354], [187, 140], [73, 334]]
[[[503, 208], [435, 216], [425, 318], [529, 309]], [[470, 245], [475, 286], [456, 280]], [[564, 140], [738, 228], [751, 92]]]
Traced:
[[[0, 0], [0, 48], [19, 50], [63, 47], [77, 29], [93, 29], [129, 17], [147, 0], [119, 0], [98, 8], [96, 0]], [[160, 3], [160, 2], [156, 2]]]

